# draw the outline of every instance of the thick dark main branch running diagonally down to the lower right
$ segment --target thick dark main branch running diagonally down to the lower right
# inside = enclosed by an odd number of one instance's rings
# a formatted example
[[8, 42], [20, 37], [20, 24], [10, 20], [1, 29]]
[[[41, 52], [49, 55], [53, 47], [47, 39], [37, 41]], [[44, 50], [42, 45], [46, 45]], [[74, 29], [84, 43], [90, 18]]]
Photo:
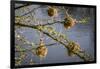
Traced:
[[[65, 46], [67, 49], [69, 49], [69, 47], [67, 46], [67, 42], [64, 42], [62, 40], [59, 40], [58, 37], [53, 37], [53, 35], [51, 35], [49, 32], [45, 32], [43, 29], [38, 29], [37, 26], [30, 26], [30, 25], [24, 25], [24, 24], [15, 24], [15, 25], [18, 25], [18, 26], [22, 26], [22, 27], [29, 27], [29, 28], [34, 28], [34, 29], [37, 29], [39, 30], [40, 32], [46, 34], [47, 36], [51, 37], [53, 40], [59, 42], [60, 44], [62, 44], [63, 46]], [[73, 52], [74, 54], [76, 54], [77, 56], [79, 56], [81, 59], [83, 59], [84, 61], [92, 61], [93, 59], [89, 56], [87, 56], [88, 54], [87, 53], [82, 53], [82, 52]]]

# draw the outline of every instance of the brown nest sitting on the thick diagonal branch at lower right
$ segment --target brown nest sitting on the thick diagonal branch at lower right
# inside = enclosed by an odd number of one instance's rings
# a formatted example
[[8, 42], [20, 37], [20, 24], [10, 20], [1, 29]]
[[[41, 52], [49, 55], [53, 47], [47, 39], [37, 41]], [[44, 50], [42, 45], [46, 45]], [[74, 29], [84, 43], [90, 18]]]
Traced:
[[68, 43], [68, 47], [69, 47], [69, 49], [68, 49], [69, 56], [75, 56], [74, 53], [81, 51], [80, 45], [73, 41]]

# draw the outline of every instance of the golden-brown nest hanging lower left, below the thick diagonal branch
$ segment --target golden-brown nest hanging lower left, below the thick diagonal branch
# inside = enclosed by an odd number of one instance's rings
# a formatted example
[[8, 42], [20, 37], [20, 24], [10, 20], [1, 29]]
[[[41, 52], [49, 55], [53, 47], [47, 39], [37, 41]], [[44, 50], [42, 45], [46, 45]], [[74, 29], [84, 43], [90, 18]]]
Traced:
[[45, 58], [47, 55], [48, 49], [45, 46], [45, 43], [43, 41], [40, 41], [39, 46], [36, 48], [36, 55], [40, 58]]

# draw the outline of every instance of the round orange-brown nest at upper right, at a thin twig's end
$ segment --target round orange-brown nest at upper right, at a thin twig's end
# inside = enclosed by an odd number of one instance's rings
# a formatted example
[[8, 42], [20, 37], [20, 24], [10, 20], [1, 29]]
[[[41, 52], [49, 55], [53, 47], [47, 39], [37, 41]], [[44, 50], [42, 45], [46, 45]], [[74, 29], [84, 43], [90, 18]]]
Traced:
[[65, 20], [64, 27], [66, 29], [70, 29], [71, 27], [73, 27], [76, 24], [76, 19], [73, 19], [71, 16], [65, 17], [64, 20]]

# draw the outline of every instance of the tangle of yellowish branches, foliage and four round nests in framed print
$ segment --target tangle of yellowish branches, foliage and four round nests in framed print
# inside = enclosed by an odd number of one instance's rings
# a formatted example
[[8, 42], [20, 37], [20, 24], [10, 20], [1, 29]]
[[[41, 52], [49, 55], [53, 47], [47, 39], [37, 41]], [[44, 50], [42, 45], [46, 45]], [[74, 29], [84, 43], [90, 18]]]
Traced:
[[[81, 46], [78, 42], [75, 42], [73, 40], [70, 40], [67, 35], [57, 32], [52, 25], [54, 24], [61, 24], [63, 27], [68, 30], [72, 27], [76, 26], [77, 24], [86, 24], [89, 20], [88, 17], [81, 18], [80, 20], [77, 20], [76, 18], [73, 18], [68, 13], [68, 8], [66, 7], [57, 7], [57, 6], [45, 6], [47, 8], [47, 16], [48, 19], [39, 19], [36, 18], [36, 14], [34, 14], [34, 11], [36, 11], [39, 8], [42, 8], [43, 6], [36, 7], [34, 9], [29, 9], [30, 4], [28, 5], [22, 5], [15, 8], [15, 11], [28, 11], [20, 16], [15, 16], [15, 39], [18, 41], [21, 41], [23, 44], [31, 46], [31, 49], [22, 48], [20, 44], [15, 43], [15, 51], [16, 53], [19, 53], [19, 57], [15, 57], [15, 65], [21, 65], [21, 62], [24, 61], [25, 57], [27, 57], [26, 52], [31, 51], [33, 55], [37, 55], [41, 60], [46, 58], [46, 55], [48, 54], [48, 46], [55, 45], [56, 43], [46, 44], [44, 42], [44, 36], [46, 35], [50, 37], [52, 40], [60, 43], [67, 49], [69, 56], [78, 56], [83, 61], [93, 61], [93, 58], [86, 53], [84, 50], [81, 49]], [[63, 20], [56, 20], [56, 17], [59, 16], [60, 12], [64, 12], [65, 16]], [[33, 13], [33, 14], [32, 14]], [[44, 13], [46, 14], [46, 13]], [[16, 13], [15, 13], [16, 15]], [[27, 16], [26, 16], [27, 15]], [[29, 15], [29, 16], [28, 16]], [[29, 19], [29, 20], [28, 20]], [[51, 20], [49, 22], [49, 20]], [[46, 21], [46, 23], [42, 23], [43, 21]], [[33, 24], [36, 23], [36, 24]], [[18, 33], [18, 29], [22, 28], [31, 28], [33, 30], [36, 30], [40, 34], [39, 42], [38, 44], [34, 42], [30, 42], [28, 39], [25, 38], [21, 33]], [[74, 36], [74, 35], [73, 35]], [[36, 64], [34, 60], [30, 60], [30, 65]]]

